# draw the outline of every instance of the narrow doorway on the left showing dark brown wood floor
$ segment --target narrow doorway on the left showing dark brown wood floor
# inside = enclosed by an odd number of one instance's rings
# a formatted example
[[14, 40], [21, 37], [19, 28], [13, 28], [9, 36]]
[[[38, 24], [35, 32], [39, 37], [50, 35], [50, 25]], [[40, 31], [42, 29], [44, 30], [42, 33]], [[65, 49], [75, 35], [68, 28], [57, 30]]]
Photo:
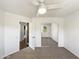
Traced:
[[20, 22], [20, 50], [29, 47], [29, 23]]

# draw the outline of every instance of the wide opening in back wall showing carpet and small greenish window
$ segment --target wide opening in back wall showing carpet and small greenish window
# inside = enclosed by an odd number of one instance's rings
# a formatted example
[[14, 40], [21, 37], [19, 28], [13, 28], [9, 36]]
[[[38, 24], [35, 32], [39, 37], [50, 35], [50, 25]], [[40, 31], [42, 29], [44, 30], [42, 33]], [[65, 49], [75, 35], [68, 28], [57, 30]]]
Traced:
[[55, 42], [58, 45], [58, 24], [43, 23], [41, 24], [41, 45], [42, 47], [54, 45], [51, 42]]

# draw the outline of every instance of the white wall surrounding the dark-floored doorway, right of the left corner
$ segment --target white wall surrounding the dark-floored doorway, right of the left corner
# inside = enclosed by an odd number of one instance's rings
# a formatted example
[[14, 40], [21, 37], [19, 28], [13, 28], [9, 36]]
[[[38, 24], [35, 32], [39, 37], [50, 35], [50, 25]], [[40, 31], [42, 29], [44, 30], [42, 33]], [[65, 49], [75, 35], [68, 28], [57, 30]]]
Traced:
[[34, 23], [31, 19], [5, 12], [5, 56], [19, 51], [20, 43], [20, 23], [29, 22], [29, 45], [34, 49], [35, 39], [33, 39], [35, 31], [33, 31]]

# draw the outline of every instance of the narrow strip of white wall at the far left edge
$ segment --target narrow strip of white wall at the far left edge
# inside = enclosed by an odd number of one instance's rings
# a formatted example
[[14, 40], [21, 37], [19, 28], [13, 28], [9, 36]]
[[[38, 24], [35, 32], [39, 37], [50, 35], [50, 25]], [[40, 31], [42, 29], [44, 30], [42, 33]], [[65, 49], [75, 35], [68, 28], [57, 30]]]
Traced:
[[4, 12], [0, 10], [0, 58], [4, 55]]

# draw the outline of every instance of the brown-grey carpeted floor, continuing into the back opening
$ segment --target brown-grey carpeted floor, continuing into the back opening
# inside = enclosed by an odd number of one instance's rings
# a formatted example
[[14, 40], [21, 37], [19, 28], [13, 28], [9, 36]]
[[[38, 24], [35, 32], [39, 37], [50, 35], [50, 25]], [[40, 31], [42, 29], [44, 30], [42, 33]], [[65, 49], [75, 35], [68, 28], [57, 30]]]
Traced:
[[57, 43], [50, 38], [42, 38], [42, 47], [35, 50], [25, 48], [4, 59], [79, 59], [64, 48], [59, 48]]

